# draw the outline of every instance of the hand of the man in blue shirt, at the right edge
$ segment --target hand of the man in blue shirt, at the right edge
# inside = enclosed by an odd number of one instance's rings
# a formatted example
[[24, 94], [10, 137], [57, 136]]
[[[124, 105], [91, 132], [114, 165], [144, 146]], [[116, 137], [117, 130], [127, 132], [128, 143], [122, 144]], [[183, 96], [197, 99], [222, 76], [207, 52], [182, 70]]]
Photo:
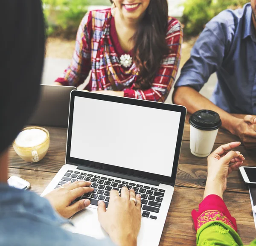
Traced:
[[253, 130], [254, 124], [256, 124], [256, 117], [247, 115], [244, 119], [239, 119], [239, 124], [234, 127], [234, 132], [244, 146], [248, 149], [256, 148], [256, 131]]

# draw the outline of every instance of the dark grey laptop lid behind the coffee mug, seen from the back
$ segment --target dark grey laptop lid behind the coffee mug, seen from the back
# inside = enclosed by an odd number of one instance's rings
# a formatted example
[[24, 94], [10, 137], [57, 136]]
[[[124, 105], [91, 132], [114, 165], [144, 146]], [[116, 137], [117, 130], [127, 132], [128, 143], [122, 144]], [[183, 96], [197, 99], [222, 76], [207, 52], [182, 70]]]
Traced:
[[44, 84], [40, 87], [40, 100], [28, 124], [67, 127], [70, 93], [76, 87]]

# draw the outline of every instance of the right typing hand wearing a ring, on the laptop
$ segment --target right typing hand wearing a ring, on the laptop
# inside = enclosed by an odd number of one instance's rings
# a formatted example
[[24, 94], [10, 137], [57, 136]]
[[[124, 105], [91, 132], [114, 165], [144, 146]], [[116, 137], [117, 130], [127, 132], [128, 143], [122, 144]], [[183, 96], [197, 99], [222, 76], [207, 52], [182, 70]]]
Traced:
[[[135, 205], [131, 198], [137, 199]], [[108, 210], [104, 202], [98, 203], [98, 219], [102, 227], [118, 246], [135, 246], [140, 232], [140, 195], [135, 196], [133, 189], [122, 187], [121, 197], [118, 191], [110, 191]]]

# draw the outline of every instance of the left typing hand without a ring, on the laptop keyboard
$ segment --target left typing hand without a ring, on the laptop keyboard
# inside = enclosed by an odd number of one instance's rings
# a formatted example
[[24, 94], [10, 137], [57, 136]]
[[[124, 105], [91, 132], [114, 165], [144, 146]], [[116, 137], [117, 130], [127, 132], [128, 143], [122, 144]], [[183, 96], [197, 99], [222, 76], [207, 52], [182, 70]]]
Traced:
[[93, 188], [89, 187], [91, 182], [76, 181], [67, 182], [61, 187], [49, 192], [44, 197], [49, 200], [52, 207], [64, 218], [69, 218], [78, 211], [90, 205], [90, 200], [83, 199], [70, 205], [77, 197], [81, 197], [84, 193], [92, 192]]

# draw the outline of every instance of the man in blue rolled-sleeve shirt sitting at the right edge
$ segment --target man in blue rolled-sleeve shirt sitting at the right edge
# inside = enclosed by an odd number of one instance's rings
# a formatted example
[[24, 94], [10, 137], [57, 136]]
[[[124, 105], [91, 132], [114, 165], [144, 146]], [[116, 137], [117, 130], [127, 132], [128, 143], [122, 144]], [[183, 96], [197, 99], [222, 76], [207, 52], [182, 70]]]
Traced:
[[[256, 143], [256, 117], [241, 120], [228, 113], [256, 115], [255, 13], [256, 0], [251, 0], [243, 9], [225, 10], [207, 23], [181, 70], [173, 96], [174, 102], [186, 106], [189, 113], [202, 108], [218, 112], [227, 130], [246, 145], [250, 142], [247, 147]], [[211, 103], [197, 92], [214, 72], [218, 83]]]

